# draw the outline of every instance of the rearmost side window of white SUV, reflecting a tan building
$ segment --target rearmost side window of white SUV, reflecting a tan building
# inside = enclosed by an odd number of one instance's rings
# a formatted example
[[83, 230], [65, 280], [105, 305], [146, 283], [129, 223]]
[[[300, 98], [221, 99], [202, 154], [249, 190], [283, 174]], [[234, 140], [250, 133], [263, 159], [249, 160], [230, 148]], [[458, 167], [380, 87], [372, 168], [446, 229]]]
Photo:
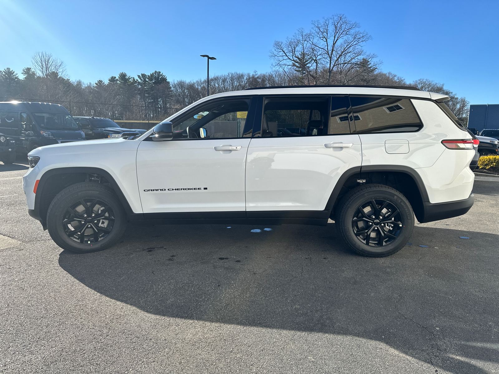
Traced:
[[423, 127], [409, 99], [350, 96], [350, 103], [359, 134], [407, 133]]

